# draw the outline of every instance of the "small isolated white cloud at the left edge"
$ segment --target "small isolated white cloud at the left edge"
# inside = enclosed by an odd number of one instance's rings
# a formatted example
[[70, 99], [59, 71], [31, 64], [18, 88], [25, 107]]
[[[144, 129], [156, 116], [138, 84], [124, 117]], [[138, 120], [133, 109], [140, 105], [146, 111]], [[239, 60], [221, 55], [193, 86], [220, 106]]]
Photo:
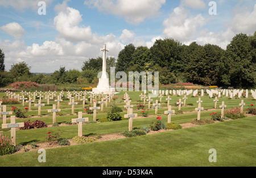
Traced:
[[0, 29], [2, 29], [11, 36], [14, 36], [15, 38], [19, 38], [25, 33], [22, 26], [20, 26], [20, 24], [16, 22], [6, 24], [5, 26], [0, 27]]

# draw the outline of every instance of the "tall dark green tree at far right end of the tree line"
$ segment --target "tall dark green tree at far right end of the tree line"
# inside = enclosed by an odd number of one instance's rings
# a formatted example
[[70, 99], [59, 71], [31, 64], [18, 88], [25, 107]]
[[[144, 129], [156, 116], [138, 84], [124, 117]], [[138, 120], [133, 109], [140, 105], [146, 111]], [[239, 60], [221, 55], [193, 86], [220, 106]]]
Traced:
[[255, 86], [256, 72], [252, 51], [251, 41], [246, 34], [240, 33], [233, 37], [223, 58], [222, 73], [226, 73], [222, 78], [224, 84], [239, 88]]

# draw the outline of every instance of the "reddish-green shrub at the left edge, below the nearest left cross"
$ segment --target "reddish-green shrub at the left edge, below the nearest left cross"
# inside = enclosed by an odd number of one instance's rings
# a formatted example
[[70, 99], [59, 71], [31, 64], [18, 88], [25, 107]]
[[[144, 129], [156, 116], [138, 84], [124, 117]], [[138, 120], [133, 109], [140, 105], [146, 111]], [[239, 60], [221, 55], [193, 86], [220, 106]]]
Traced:
[[12, 154], [15, 151], [15, 146], [11, 145], [9, 137], [0, 133], [0, 155]]

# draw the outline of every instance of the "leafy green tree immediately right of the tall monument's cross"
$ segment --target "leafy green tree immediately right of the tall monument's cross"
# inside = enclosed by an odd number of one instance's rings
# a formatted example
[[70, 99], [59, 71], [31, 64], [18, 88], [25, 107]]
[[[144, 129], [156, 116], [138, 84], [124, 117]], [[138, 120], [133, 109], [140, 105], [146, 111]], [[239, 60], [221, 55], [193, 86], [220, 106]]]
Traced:
[[126, 45], [121, 52], [118, 54], [118, 59], [116, 63], [117, 71], [126, 71], [133, 61], [133, 53], [135, 51], [135, 46], [133, 44]]

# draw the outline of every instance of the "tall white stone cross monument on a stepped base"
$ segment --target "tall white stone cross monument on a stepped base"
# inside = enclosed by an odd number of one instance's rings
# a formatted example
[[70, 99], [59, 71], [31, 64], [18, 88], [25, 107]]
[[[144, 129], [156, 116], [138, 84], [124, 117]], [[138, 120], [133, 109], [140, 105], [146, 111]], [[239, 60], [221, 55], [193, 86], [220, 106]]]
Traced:
[[102, 75], [99, 79], [97, 88], [93, 88], [93, 92], [96, 94], [101, 94], [102, 92], [106, 94], [110, 94], [115, 92], [115, 88], [111, 88], [109, 85], [109, 78], [106, 73], [106, 52], [109, 52], [109, 49], [106, 49], [106, 45], [104, 44], [104, 48], [101, 49], [103, 52], [103, 62], [102, 62]]

